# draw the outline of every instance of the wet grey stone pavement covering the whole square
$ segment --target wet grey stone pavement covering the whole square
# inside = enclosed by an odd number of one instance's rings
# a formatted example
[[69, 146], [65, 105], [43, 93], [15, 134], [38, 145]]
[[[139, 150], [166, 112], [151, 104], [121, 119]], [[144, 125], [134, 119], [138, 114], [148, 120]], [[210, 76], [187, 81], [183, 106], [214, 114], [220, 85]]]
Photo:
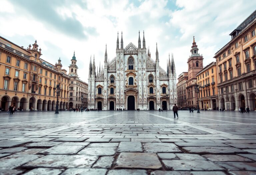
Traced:
[[255, 175], [256, 112], [0, 114], [0, 175]]

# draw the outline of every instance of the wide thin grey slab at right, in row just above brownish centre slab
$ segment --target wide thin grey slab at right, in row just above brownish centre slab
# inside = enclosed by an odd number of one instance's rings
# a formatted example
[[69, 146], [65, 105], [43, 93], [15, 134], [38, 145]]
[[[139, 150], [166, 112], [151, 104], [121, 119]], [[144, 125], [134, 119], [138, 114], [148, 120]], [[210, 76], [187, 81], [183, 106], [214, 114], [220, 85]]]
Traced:
[[198, 147], [183, 147], [188, 153], [194, 154], [236, 154], [246, 153], [246, 151], [233, 148], [233, 147], [211, 147], [211, 146], [198, 146]]

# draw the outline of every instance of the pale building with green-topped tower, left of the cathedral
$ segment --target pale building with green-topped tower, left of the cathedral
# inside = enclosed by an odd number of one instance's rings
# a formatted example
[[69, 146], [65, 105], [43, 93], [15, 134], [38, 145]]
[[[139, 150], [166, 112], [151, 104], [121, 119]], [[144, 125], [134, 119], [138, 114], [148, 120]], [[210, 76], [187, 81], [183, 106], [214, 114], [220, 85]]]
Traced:
[[88, 107], [88, 84], [78, 77], [77, 60], [74, 55], [69, 65], [69, 108], [87, 108]]

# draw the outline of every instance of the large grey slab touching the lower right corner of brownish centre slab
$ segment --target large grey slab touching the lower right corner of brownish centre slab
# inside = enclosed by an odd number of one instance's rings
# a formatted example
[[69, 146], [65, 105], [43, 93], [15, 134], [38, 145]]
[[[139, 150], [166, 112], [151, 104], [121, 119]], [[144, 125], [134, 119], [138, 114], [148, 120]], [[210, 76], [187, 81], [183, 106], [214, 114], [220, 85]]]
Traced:
[[162, 160], [165, 167], [174, 171], [219, 171], [220, 166], [207, 160]]

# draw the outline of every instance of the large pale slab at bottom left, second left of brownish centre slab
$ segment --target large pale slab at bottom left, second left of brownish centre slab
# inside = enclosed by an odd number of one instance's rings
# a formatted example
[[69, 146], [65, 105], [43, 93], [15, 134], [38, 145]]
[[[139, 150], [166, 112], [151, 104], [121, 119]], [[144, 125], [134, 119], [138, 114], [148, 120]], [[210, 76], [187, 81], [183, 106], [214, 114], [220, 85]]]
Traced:
[[[22, 155], [23, 156], [23, 155]], [[90, 168], [98, 156], [87, 155], [46, 155], [23, 165], [26, 168]]]

